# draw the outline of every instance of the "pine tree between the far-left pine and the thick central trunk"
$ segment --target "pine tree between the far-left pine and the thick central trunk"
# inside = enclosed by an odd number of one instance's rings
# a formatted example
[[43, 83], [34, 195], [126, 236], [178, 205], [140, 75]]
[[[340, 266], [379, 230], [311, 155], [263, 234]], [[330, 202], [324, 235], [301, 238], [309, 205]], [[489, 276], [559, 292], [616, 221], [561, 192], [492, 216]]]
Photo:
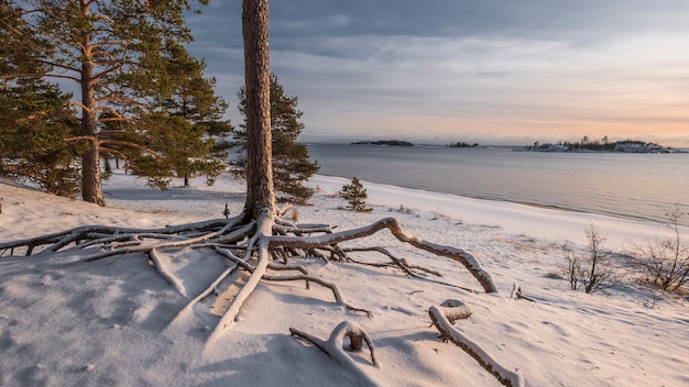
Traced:
[[165, 188], [171, 177], [189, 178], [206, 176], [212, 185], [226, 169], [225, 140], [232, 131], [229, 120], [222, 120], [228, 104], [214, 93], [216, 80], [205, 78], [206, 63], [189, 56], [179, 45], [165, 49], [169, 77], [168, 91], [162, 93], [160, 111], [138, 122], [144, 129], [152, 148], [161, 157], [143, 155], [134, 173], [149, 177], [152, 185]]

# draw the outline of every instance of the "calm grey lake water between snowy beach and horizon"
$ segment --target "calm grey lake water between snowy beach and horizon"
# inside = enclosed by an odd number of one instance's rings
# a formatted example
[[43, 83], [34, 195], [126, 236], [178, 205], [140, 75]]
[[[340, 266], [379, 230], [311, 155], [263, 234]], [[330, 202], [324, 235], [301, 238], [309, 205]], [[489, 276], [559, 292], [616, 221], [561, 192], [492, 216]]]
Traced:
[[[637, 220], [689, 212], [689, 153], [513, 152], [508, 147], [309, 144], [319, 174]], [[689, 217], [681, 219], [689, 225]]]

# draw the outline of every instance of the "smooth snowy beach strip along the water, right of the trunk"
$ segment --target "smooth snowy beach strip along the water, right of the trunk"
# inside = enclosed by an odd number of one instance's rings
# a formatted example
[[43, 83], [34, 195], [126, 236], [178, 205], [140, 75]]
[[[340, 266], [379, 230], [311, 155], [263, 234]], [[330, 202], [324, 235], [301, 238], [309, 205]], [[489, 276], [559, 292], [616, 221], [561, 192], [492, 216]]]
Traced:
[[[315, 175], [309, 185], [326, 194], [337, 192], [350, 179], [344, 177]], [[628, 247], [648, 239], [671, 236], [671, 230], [653, 220], [634, 220], [592, 212], [532, 206], [504, 200], [479, 199], [453, 194], [434, 192], [417, 188], [404, 188], [361, 180], [369, 196], [367, 203], [387, 207], [391, 210], [404, 207], [415, 211], [436, 213], [460, 223], [503, 229], [553, 243], [567, 241], [584, 244], [584, 230], [592, 223], [606, 237], [610, 248]], [[391, 198], [398, 203], [391, 202]], [[375, 213], [375, 212], [374, 212]], [[680, 225], [682, 240], [689, 240], [689, 228]]]

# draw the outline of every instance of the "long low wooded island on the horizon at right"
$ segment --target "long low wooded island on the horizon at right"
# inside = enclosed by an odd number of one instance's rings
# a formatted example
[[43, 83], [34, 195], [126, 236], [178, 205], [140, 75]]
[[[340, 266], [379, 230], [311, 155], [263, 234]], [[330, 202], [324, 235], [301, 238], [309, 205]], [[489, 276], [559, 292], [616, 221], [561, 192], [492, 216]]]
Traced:
[[528, 151], [528, 152], [619, 152], [619, 153], [682, 153], [682, 151], [658, 145], [656, 143], [648, 143], [637, 140], [613, 141], [608, 142], [606, 137], [603, 137], [602, 142], [588, 141], [587, 137], [581, 142], [558, 142], [557, 144], [538, 142], [534, 145], [522, 146], [515, 148], [515, 151]]

